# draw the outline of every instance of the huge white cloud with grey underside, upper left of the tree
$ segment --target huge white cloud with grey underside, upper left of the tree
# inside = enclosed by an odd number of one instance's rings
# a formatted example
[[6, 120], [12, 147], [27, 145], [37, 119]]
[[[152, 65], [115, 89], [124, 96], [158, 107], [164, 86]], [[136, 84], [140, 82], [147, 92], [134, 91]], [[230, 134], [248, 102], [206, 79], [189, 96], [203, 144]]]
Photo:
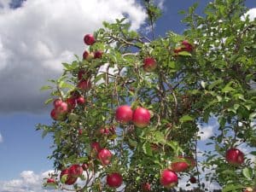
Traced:
[[0, 113], [42, 110], [48, 93], [40, 87], [60, 76], [61, 62], [83, 54], [84, 34], [103, 20], [127, 16], [137, 30], [146, 18], [136, 0], [27, 0], [20, 9], [0, 3]]

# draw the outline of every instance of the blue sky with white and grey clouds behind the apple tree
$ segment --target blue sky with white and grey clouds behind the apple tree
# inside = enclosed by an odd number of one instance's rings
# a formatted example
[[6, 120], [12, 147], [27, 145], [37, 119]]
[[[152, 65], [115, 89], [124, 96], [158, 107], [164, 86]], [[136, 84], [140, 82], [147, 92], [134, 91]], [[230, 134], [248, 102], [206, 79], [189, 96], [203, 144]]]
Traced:
[[[164, 13], [156, 35], [182, 33], [177, 12], [195, 0], [157, 2]], [[201, 13], [209, 0], [197, 2]], [[247, 7], [255, 16], [255, 0], [247, 0]], [[41, 181], [52, 169], [51, 140], [43, 140], [35, 125], [51, 119], [44, 106], [47, 93], [39, 89], [61, 74], [61, 62], [83, 53], [84, 34], [124, 15], [132, 29], [141, 30], [146, 15], [138, 0], [0, 0], [0, 192], [49, 191], [41, 189]], [[213, 126], [201, 128], [203, 138]]]

